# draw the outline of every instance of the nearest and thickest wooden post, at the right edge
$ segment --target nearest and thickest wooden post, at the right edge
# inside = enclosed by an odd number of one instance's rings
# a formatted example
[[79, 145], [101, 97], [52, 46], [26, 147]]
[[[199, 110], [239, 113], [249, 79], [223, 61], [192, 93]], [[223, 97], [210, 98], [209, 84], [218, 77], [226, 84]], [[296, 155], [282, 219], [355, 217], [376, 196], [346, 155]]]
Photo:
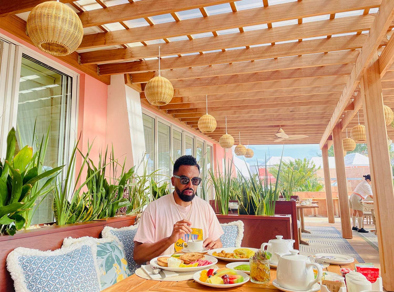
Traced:
[[394, 190], [383, 113], [377, 53], [361, 78], [361, 98], [374, 194], [377, 238], [383, 287], [394, 291]]

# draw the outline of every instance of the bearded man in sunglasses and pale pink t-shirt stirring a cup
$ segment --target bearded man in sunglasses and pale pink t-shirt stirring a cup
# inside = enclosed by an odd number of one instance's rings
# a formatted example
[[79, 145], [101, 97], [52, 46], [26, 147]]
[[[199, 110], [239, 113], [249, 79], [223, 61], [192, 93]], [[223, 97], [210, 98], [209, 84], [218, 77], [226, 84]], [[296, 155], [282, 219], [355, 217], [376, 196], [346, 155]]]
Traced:
[[187, 247], [188, 240], [203, 240], [207, 249], [221, 248], [224, 233], [212, 207], [195, 197], [201, 182], [200, 166], [191, 155], [175, 161], [173, 193], [150, 203], [142, 213], [134, 236], [134, 260], [148, 262]]

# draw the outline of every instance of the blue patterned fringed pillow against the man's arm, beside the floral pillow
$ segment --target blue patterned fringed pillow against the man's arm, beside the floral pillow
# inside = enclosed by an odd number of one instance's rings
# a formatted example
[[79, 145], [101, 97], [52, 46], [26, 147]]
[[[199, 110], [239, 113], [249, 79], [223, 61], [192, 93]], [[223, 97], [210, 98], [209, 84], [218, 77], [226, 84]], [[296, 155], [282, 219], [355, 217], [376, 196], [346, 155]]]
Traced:
[[126, 226], [122, 228], [106, 226], [101, 232], [103, 238], [116, 236], [121, 244], [123, 244], [128, 268], [132, 274], [134, 274], [138, 268], [141, 268], [141, 265], [134, 261], [134, 236], [136, 235], [137, 228], [138, 226]]

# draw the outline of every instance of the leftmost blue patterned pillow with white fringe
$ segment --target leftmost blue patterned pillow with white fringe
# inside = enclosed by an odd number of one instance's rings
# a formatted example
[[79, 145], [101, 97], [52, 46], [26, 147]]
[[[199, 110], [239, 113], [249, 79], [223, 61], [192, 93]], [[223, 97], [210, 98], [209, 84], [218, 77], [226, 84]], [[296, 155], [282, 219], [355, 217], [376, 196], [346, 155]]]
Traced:
[[55, 251], [18, 247], [7, 257], [16, 292], [99, 292], [92, 249], [75, 245]]

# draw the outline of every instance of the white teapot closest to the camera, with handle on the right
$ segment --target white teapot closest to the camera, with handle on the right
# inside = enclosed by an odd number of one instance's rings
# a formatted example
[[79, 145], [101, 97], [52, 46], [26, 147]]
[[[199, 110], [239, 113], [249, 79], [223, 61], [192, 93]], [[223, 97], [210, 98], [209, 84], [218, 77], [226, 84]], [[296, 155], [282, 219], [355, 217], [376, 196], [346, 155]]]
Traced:
[[[323, 270], [320, 264], [298, 254], [296, 249], [290, 250], [290, 254], [276, 253], [279, 259], [276, 272], [278, 285], [289, 290], [307, 291], [322, 277]], [[318, 276], [314, 278], [313, 267], [318, 270]]]

